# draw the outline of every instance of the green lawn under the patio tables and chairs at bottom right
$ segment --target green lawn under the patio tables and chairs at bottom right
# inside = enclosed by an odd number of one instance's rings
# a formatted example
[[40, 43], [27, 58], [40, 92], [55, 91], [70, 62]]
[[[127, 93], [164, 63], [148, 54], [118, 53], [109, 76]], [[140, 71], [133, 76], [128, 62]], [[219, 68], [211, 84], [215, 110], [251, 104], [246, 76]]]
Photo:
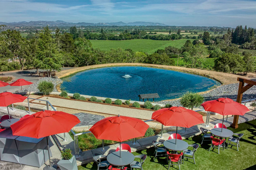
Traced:
[[[218, 155], [218, 149], [214, 151], [208, 151], [210, 142], [205, 142], [195, 152], [195, 162], [192, 159], [184, 162], [180, 165], [181, 170], [244, 170], [256, 169], [256, 120], [239, 124], [239, 128], [233, 129], [228, 127], [234, 133], [244, 133], [244, 136], [240, 140], [241, 147], [239, 152], [236, 147], [230, 147], [228, 149], [220, 149]], [[201, 136], [195, 136], [189, 139], [185, 139], [189, 144], [201, 143]], [[217, 153], [216, 153], [217, 152]], [[140, 150], [134, 152], [134, 155], [146, 154], [148, 157], [143, 164], [143, 170], [166, 170], [168, 164], [163, 158], [158, 158], [153, 161], [154, 148], [146, 150]], [[175, 170], [178, 166], [170, 167], [170, 170]], [[96, 170], [97, 165], [94, 162], [90, 164], [84, 164], [79, 166], [79, 170]]]

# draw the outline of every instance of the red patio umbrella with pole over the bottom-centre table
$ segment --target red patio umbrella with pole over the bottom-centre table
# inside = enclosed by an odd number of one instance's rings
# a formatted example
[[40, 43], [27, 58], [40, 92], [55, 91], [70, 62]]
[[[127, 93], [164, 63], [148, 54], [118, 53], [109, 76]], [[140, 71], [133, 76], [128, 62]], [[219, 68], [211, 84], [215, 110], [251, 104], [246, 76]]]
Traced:
[[[128, 116], [111, 116], [96, 122], [90, 131], [97, 139], [120, 142], [144, 136], [149, 125], [140, 119]], [[120, 152], [121, 157], [121, 152]]]

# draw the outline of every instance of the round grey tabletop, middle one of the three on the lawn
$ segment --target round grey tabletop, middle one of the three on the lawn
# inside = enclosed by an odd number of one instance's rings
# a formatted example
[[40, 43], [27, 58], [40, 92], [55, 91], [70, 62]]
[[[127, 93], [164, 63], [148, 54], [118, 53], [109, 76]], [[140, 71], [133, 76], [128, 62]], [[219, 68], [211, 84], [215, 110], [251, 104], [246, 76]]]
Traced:
[[174, 150], [174, 151], [180, 151], [180, 150], [185, 150], [186, 148], [189, 147], [189, 144], [183, 140], [177, 139], [177, 142], [175, 144], [176, 139], [169, 139], [163, 142], [163, 146], [166, 147], [169, 150]]

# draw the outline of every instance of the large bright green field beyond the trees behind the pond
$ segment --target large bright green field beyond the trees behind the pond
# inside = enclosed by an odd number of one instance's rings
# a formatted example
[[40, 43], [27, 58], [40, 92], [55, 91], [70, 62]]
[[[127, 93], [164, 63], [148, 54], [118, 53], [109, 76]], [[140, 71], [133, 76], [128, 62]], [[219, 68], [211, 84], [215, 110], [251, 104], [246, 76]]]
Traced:
[[90, 40], [93, 44], [93, 48], [99, 48], [102, 51], [109, 51], [111, 49], [127, 49], [130, 48], [133, 51], [154, 52], [158, 49], [164, 49], [167, 46], [173, 46], [181, 48], [188, 39], [162, 41], [162, 40]]

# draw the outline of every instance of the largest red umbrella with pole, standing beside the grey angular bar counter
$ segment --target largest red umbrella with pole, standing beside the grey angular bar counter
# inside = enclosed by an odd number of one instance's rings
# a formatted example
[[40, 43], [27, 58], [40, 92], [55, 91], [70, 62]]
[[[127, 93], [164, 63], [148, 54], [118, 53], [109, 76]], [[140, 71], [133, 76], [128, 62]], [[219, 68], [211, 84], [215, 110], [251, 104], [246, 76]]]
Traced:
[[80, 120], [72, 114], [61, 111], [40, 111], [27, 116], [25, 119], [11, 125], [12, 134], [31, 138], [42, 138], [47, 136], [49, 166], [49, 136], [69, 132], [72, 127], [80, 123]]

